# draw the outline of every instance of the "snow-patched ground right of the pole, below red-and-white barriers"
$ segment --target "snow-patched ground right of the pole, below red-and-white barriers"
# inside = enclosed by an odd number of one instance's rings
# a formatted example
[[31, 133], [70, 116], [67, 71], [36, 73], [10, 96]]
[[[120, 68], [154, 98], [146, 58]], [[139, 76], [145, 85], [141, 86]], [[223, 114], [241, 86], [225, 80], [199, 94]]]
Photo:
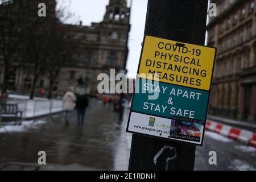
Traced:
[[[209, 152], [217, 154], [217, 164], [209, 164]], [[256, 148], [206, 131], [203, 147], [196, 147], [195, 170], [255, 171]]]

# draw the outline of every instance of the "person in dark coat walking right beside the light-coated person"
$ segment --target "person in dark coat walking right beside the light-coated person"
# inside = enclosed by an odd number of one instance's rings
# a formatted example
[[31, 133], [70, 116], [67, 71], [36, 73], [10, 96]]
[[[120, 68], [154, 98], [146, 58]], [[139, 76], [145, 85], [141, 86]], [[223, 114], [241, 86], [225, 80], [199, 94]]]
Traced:
[[86, 95], [81, 95], [76, 100], [76, 109], [77, 109], [77, 125], [84, 125], [84, 115], [85, 110], [89, 105], [88, 98]]

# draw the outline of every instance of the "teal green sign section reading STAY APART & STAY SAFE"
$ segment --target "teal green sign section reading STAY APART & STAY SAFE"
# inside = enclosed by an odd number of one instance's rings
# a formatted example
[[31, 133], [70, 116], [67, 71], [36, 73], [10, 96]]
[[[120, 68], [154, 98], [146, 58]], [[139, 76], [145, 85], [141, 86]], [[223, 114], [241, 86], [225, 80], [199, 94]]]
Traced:
[[131, 110], [167, 118], [198, 119], [204, 125], [208, 97], [209, 93], [203, 90], [139, 78]]

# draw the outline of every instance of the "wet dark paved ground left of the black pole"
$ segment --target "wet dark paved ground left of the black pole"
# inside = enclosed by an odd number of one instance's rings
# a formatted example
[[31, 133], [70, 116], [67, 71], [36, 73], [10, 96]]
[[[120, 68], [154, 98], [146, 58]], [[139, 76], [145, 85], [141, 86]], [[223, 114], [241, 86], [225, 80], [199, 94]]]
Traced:
[[40, 169], [127, 170], [126, 123], [118, 122], [112, 105], [90, 106], [82, 127], [75, 111], [69, 126], [63, 113], [40, 120], [47, 122], [23, 132], [0, 133], [0, 169], [38, 169], [38, 152], [46, 151], [47, 165]]

